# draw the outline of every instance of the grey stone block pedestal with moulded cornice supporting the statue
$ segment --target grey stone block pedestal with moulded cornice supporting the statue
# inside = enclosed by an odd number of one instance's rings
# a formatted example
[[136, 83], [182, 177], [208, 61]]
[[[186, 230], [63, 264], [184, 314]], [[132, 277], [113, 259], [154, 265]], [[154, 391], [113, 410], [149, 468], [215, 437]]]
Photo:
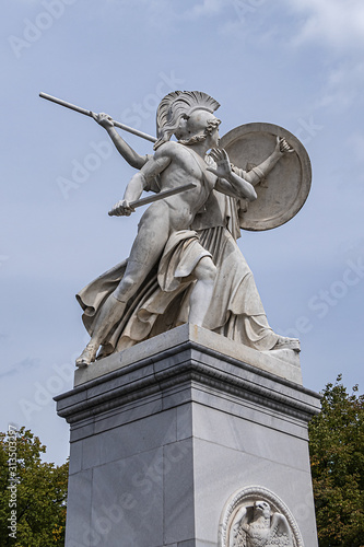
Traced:
[[249, 487], [289, 508], [292, 545], [316, 547], [319, 396], [278, 357], [184, 325], [78, 370], [56, 397], [71, 426], [66, 547], [225, 547]]

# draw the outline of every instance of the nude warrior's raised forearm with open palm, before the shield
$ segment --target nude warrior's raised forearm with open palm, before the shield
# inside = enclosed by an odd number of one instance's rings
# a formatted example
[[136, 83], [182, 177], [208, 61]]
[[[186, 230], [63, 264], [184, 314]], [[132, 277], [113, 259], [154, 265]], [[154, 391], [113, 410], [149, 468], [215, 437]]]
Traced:
[[216, 168], [207, 167], [208, 171], [216, 175], [215, 189], [234, 198], [257, 199], [254, 186], [236, 173], [233, 173], [227, 152], [225, 150], [213, 149], [210, 156], [216, 162]]

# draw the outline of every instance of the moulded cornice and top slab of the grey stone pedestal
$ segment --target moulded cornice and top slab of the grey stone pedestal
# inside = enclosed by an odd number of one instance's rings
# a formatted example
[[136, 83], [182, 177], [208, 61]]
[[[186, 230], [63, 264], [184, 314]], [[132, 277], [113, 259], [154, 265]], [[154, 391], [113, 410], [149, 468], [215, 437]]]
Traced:
[[[136, 346], [90, 365], [90, 370], [78, 370], [78, 385], [55, 398], [59, 416], [75, 422], [134, 400], [152, 396], [163, 398], [163, 394], [171, 395], [171, 392], [180, 392], [181, 388], [189, 392], [185, 397], [190, 400], [193, 400], [196, 391], [209, 391], [239, 401], [263, 405], [304, 421], [309, 421], [319, 410], [316, 393], [282, 377], [283, 373], [289, 377], [301, 377], [300, 366], [295, 364], [265, 354], [260, 359], [262, 365], [258, 366], [259, 352], [238, 345], [242, 350], [238, 359], [234, 342], [227, 340], [230, 344], [226, 344], [224, 337], [190, 325], [161, 337], [150, 340], [150, 357], [144, 357], [145, 347]], [[211, 340], [212, 347], [208, 347]], [[220, 347], [218, 342], [221, 342]], [[230, 354], [223, 352], [226, 347]], [[270, 372], [274, 366], [278, 374]]]

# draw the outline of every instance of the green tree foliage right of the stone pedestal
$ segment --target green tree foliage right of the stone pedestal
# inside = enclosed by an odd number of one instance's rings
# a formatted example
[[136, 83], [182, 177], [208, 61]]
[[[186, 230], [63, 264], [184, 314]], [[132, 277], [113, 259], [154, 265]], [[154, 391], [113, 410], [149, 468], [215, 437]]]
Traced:
[[320, 547], [364, 546], [364, 396], [327, 384], [309, 424], [309, 451]]

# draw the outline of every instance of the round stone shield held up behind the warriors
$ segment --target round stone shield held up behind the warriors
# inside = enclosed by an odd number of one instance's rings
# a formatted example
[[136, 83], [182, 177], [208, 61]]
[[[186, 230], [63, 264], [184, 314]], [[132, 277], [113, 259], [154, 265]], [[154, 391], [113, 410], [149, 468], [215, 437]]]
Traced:
[[258, 198], [247, 203], [240, 217], [244, 230], [271, 230], [291, 220], [302, 208], [310, 189], [312, 170], [306, 149], [283, 127], [245, 124], [228, 131], [220, 141], [230, 161], [244, 171], [259, 166], [283, 137], [293, 152], [286, 152], [256, 186]]

